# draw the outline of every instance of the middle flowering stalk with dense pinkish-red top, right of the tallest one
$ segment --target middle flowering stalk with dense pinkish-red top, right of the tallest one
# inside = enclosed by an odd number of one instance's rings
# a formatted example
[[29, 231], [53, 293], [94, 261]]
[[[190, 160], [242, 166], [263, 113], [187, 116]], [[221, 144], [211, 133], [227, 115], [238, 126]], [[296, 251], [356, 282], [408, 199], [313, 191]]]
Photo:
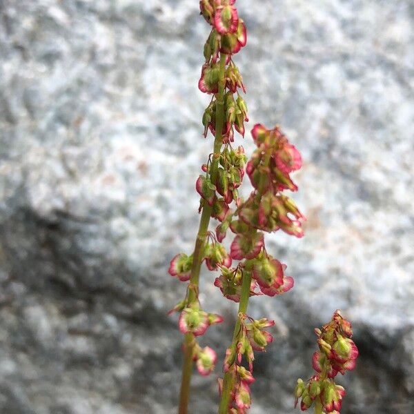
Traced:
[[[304, 216], [293, 200], [283, 194], [284, 190], [297, 190], [290, 173], [302, 166], [299, 152], [278, 127], [267, 130], [257, 124], [252, 135], [257, 149], [247, 163], [246, 172], [254, 190], [246, 201], [239, 200], [237, 210], [216, 230], [221, 239], [228, 228], [235, 233], [230, 257], [240, 261], [236, 268], [221, 266], [221, 275], [215, 280], [215, 286], [225, 297], [239, 302], [233, 341], [224, 359], [224, 380], [219, 382], [219, 414], [242, 414], [250, 408], [250, 384], [255, 380], [254, 351], [264, 351], [273, 341], [265, 328], [275, 322], [249, 317], [248, 299], [254, 295], [281, 295], [293, 287], [293, 278], [284, 274], [286, 265], [266, 251], [262, 232], [281, 229], [296, 237], [304, 234]], [[248, 370], [242, 366], [243, 358], [248, 362]]]

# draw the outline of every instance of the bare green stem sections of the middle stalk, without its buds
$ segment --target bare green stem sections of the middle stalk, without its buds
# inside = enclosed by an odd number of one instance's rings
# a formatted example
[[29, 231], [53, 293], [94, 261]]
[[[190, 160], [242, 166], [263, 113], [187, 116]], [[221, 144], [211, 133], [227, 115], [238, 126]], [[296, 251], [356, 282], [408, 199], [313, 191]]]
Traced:
[[[251, 273], [245, 272], [243, 275], [242, 293], [240, 295], [239, 314], [246, 313], [247, 311], [248, 299], [250, 297], [251, 282], [252, 282]], [[237, 317], [237, 322], [235, 324], [235, 332], [233, 333], [233, 342], [231, 344], [231, 348], [233, 349], [237, 346], [237, 338], [239, 336], [241, 327], [242, 327], [242, 324], [240, 322], [240, 318]], [[230, 404], [230, 393], [232, 389], [233, 389], [233, 372], [229, 370], [224, 374], [223, 391], [221, 393], [219, 414], [228, 413], [228, 406]]]

